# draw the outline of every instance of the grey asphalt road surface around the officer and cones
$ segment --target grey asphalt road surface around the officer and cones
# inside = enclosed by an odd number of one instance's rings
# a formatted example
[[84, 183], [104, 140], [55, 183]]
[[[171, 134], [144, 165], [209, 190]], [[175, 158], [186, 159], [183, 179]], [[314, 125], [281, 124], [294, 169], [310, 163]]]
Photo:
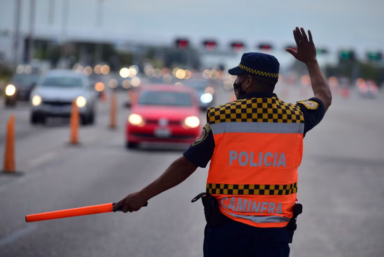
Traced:
[[[277, 92], [287, 102], [311, 97], [310, 90], [296, 87], [279, 86]], [[231, 93], [217, 90], [217, 104], [228, 102]], [[108, 104], [99, 103], [96, 125], [81, 127], [76, 147], [67, 144], [67, 120], [32, 127], [28, 105], [0, 106], [0, 164], [6, 121], [15, 114], [16, 169], [22, 172], [0, 175], [1, 257], [202, 256], [205, 220], [201, 203], [191, 199], [204, 191], [208, 168], [199, 168], [136, 213], [24, 220], [26, 214], [120, 200], [182, 154], [185, 147], [125, 149], [126, 99], [119, 95], [116, 130], [108, 128]], [[298, 190], [304, 213], [291, 256], [383, 256], [383, 104], [383, 96], [334, 95], [320, 125], [307, 134]]]

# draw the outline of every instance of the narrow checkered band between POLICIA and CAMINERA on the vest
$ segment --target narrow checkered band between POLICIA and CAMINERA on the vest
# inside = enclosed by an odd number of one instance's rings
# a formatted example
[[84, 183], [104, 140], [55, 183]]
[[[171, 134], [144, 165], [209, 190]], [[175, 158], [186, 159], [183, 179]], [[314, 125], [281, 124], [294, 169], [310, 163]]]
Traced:
[[288, 195], [297, 192], [294, 184], [207, 184], [207, 193], [224, 195]]

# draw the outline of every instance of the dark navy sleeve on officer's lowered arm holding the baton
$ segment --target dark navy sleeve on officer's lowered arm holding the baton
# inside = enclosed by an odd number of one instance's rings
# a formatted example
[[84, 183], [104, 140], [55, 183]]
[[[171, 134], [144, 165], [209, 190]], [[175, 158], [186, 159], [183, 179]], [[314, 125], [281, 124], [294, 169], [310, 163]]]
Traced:
[[203, 127], [200, 135], [183, 155], [194, 165], [205, 168], [212, 158], [214, 149], [215, 140], [213, 139], [211, 126], [207, 123]]

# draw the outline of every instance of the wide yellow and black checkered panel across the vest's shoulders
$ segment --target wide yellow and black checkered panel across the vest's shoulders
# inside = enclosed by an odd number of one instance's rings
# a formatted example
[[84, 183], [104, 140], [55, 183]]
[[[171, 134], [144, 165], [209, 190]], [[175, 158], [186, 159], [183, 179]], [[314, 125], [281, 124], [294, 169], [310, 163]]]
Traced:
[[304, 116], [298, 105], [286, 104], [276, 97], [250, 98], [209, 108], [207, 121], [304, 123]]

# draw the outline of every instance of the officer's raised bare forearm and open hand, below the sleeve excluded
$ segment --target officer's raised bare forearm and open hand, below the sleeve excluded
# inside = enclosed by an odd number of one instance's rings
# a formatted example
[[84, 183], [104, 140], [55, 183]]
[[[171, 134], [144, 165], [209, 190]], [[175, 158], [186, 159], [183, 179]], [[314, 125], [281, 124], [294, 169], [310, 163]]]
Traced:
[[316, 59], [316, 47], [312, 39], [311, 31], [308, 31], [309, 39], [303, 28], [298, 27], [293, 31], [297, 51], [287, 48], [286, 51], [292, 54], [297, 60], [307, 65], [309, 76], [311, 77], [312, 89], [316, 98], [324, 104], [325, 111], [328, 110], [332, 102], [332, 94], [324, 74]]

